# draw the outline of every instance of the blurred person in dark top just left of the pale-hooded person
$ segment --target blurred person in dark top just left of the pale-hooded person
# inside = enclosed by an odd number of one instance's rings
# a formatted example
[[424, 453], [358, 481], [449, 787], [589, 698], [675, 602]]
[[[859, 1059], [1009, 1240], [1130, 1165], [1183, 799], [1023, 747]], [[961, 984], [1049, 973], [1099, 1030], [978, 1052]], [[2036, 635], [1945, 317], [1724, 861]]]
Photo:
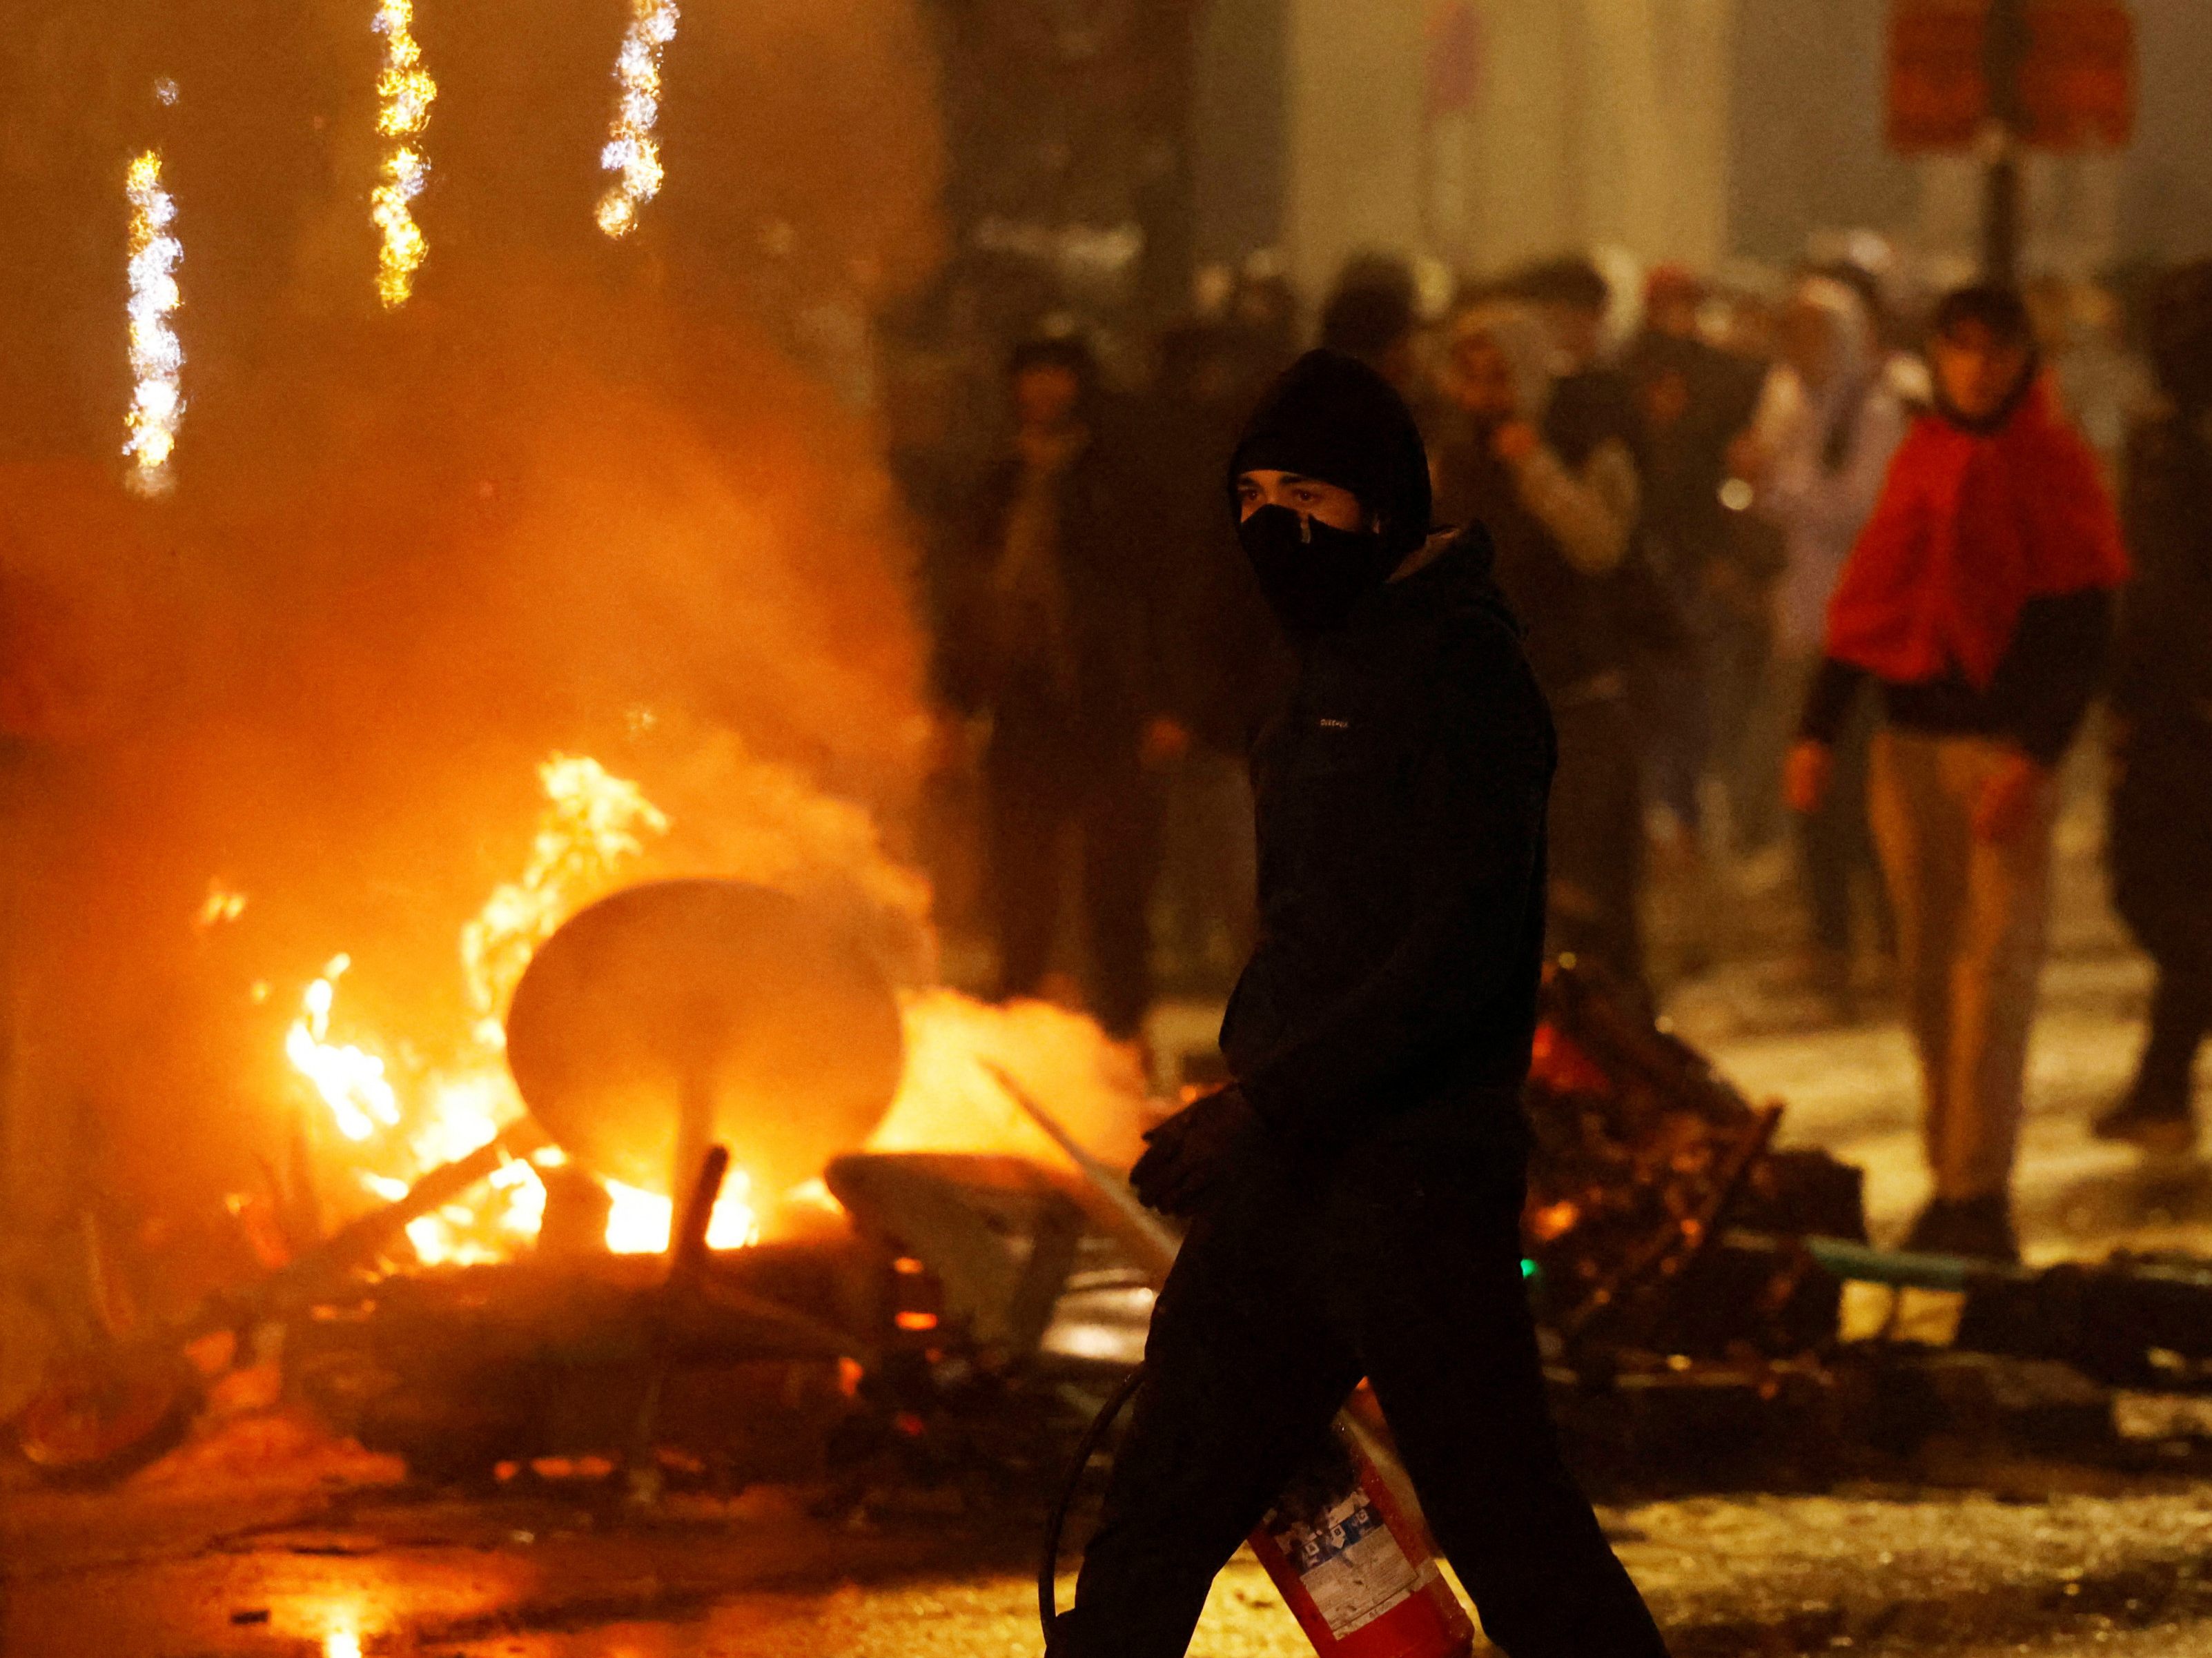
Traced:
[[1703, 285], [1681, 265], [1646, 281], [1644, 332], [1621, 369], [1644, 424], [1641, 537], [1652, 575], [1683, 619], [1686, 650], [1644, 659], [1637, 703], [1650, 714], [1646, 767], [1655, 805], [1694, 858], [1703, 783], [1717, 747], [1732, 754], [1765, 665], [1765, 632], [1745, 628], [1739, 537], [1721, 500], [1728, 447], [1752, 418], [1763, 365], [1708, 345]]

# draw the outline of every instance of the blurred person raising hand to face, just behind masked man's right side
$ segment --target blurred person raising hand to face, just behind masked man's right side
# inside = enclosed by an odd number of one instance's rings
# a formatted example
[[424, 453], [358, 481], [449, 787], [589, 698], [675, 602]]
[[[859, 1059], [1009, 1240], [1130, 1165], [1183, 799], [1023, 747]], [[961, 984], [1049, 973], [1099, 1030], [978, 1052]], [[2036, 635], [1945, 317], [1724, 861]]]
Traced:
[[1498, 586], [1559, 732], [1551, 789], [1551, 948], [1646, 993], [1644, 794], [1615, 577], [1637, 522], [1628, 444], [1568, 462], [1546, 436], [1555, 347], [1526, 305], [1491, 301], [1451, 332], [1455, 422], [1436, 444], [1438, 515], [1482, 524]]

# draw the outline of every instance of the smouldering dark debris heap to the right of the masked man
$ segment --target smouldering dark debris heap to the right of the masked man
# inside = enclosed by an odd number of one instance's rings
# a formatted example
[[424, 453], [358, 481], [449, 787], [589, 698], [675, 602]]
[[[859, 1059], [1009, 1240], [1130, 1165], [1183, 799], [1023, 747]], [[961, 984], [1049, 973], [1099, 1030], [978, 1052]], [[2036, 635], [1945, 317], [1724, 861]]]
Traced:
[[[2203, 1391], [2212, 1262], [2024, 1271], [1867, 1245], [1860, 1172], [1571, 962], [1528, 1081], [1528, 1271], [1562, 1428], [1613, 1481], [1823, 1483], [1922, 1448], [2177, 1466], [2119, 1391]], [[1845, 1287], [1887, 1300], [1843, 1318]]]

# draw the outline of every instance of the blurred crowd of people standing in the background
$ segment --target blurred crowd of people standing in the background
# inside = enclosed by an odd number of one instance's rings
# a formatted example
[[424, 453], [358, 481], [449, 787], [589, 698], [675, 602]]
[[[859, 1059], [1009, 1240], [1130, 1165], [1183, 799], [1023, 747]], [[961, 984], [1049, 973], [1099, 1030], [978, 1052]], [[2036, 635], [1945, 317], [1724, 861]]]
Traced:
[[1303, 316], [1261, 263], [1208, 274], [1150, 351], [1033, 303], [989, 402], [938, 398], [894, 440], [945, 712], [931, 856], [978, 977], [1135, 1043], [1164, 988], [1217, 993], [1243, 957], [1243, 754], [1290, 659], [1223, 458], [1318, 343], [1405, 396], [1436, 522], [1486, 528], [1526, 628], [1559, 738], [1553, 951], [1646, 1008], [1747, 953], [1814, 1019], [1891, 1001], [1936, 1174], [1913, 1236], [2008, 1253], [2053, 822], [2095, 721], [2117, 909], [2159, 968], [2097, 1132], [2194, 1141], [2212, 267], [2121, 305], [1913, 294], [1851, 261], [1752, 290], [1363, 256]]

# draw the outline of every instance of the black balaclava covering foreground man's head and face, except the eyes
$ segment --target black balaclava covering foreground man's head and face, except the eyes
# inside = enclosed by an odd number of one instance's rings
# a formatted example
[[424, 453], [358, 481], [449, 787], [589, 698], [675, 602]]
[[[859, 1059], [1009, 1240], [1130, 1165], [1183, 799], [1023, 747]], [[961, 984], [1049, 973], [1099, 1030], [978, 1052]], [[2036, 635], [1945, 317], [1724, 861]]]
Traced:
[[1237, 480], [1285, 471], [1349, 489], [1374, 517], [1338, 531], [1287, 506], [1263, 506], [1237, 526], [1252, 573], [1294, 639], [1332, 632], [1389, 581], [1429, 535], [1429, 453], [1405, 398], [1343, 351], [1307, 351], [1261, 398], [1230, 458]]

